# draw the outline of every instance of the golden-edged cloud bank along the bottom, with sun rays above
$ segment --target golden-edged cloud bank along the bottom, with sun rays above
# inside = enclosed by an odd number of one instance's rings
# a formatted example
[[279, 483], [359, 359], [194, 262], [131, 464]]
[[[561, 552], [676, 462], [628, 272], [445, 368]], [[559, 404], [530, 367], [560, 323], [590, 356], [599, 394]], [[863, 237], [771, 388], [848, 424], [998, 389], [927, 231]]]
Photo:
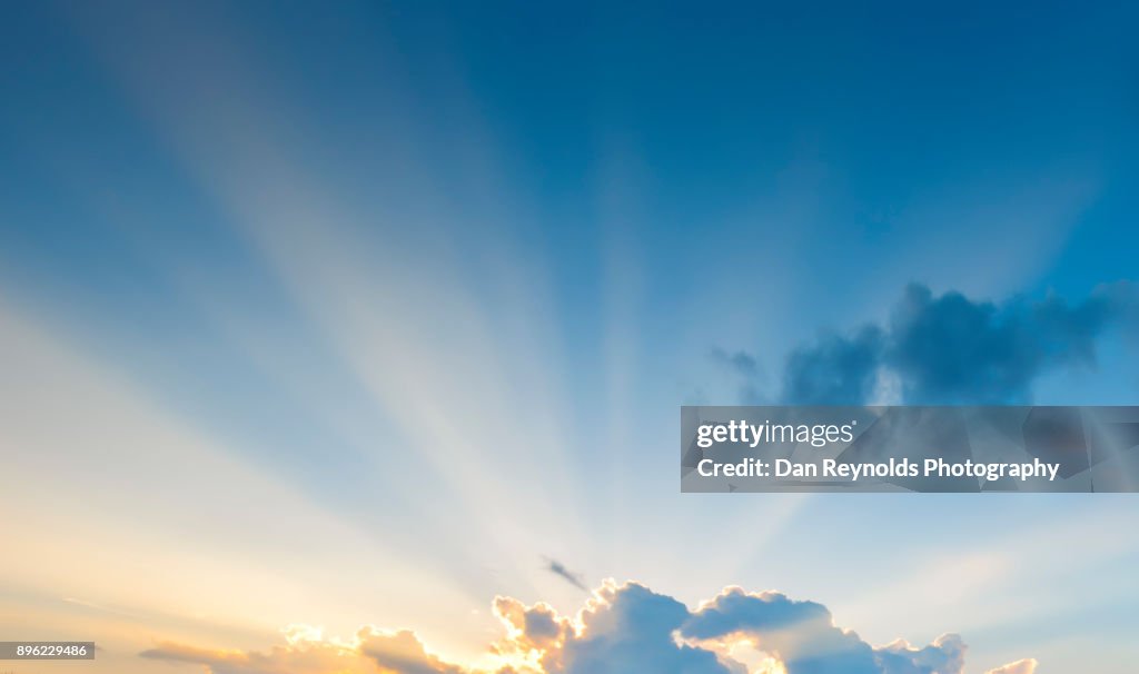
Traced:
[[[550, 605], [498, 597], [503, 636], [487, 664], [432, 655], [410, 631], [362, 627], [347, 642], [292, 628], [269, 652], [166, 643], [145, 658], [203, 665], [206, 674], [964, 674], [964, 641], [945, 634], [925, 647], [903, 640], [875, 648], [835, 625], [813, 601], [727, 587], [695, 611], [667, 594], [606, 581], [576, 616]], [[757, 657], [744, 657], [751, 650]], [[1033, 674], [1019, 660], [988, 674]]]

